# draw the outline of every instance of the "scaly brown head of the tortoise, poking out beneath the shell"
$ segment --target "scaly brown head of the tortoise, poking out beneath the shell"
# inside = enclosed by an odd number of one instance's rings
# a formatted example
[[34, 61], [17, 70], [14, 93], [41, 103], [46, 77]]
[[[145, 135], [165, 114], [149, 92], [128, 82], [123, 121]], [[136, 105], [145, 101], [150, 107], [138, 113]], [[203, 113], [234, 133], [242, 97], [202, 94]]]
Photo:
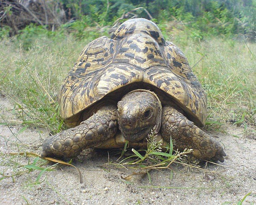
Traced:
[[140, 141], [161, 126], [162, 105], [154, 92], [133, 90], [117, 103], [119, 129], [128, 141]]

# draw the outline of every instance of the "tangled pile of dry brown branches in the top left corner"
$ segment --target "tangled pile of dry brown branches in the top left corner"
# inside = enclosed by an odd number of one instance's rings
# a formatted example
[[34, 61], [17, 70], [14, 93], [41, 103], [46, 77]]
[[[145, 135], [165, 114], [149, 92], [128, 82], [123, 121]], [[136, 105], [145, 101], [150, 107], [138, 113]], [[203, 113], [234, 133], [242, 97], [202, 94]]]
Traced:
[[9, 26], [11, 35], [31, 23], [53, 27], [65, 22], [65, 11], [55, 0], [0, 1], [0, 26]]

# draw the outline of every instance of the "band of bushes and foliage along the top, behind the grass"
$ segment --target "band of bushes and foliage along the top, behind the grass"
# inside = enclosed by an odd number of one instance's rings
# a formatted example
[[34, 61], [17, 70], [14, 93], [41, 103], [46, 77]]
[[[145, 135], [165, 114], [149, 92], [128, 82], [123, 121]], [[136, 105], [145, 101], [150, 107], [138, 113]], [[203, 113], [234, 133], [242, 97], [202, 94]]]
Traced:
[[[23, 22], [24, 25], [19, 27], [22, 29], [16, 33], [12, 27], [13, 20], [17, 21], [17, 15], [24, 15], [24, 12], [15, 10], [18, 3], [4, 2], [0, 3], [0, 9], [3, 10], [0, 14], [4, 14], [0, 17], [0, 38], [18, 33], [18, 39], [25, 48], [30, 47], [30, 41], [33, 41], [31, 38], [35, 35], [55, 37], [67, 32], [78, 39], [84, 38], [88, 36], [84, 32], [86, 28], [110, 27], [120, 16], [138, 7], [147, 9], [153, 18], [152, 21], [163, 24], [162, 30], [166, 27], [177, 28], [185, 31], [191, 38], [203, 39], [220, 35], [255, 40], [256, 35], [256, 0], [48, 0], [44, 1], [48, 3], [46, 9], [41, 10], [35, 10], [35, 7], [39, 8], [39, 4], [35, 4], [39, 1], [34, 0], [31, 2], [35, 5], [28, 7], [31, 11], [35, 14], [45, 12], [47, 17], [47, 8], [55, 6], [56, 9], [48, 13], [55, 12], [56, 19], [52, 17], [52, 22], [49, 22], [48, 17], [47, 21], [43, 21], [44, 15], [41, 15], [38, 21]], [[143, 9], [132, 13], [137, 17], [149, 18]], [[26, 20], [29, 18], [32, 17], [26, 17]], [[94, 30], [90, 32], [95, 33]]]

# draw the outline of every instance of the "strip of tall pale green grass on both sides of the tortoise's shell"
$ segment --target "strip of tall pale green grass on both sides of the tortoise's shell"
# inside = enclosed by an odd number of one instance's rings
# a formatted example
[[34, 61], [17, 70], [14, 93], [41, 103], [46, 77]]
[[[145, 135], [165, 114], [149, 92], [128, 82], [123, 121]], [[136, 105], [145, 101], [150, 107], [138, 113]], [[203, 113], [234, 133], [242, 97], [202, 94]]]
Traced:
[[[163, 34], [185, 53], [208, 95], [207, 128], [230, 121], [238, 126], [255, 123], [255, 43], [216, 37], [198, 41], [187, 32], [165, 29]], [[24, 125], [48, 127], [53, 133], [65, 129], [58, 90], [84, 46], [97, 35], [89, 32], [87, 39], [75, 40], [62, 33], [59, 38], [40, 34], [28, 50], [16, 39], [0, 42], [0, 93], [12, 99]]]

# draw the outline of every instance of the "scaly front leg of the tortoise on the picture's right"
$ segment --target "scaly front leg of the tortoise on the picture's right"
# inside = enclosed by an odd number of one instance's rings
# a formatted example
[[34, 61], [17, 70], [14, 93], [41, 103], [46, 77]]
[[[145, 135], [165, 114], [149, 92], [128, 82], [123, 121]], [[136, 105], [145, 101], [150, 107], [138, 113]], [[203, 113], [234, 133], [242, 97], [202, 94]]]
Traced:
[[170, 141], [172, 136], [179, 150], [193, 149], [193, 155], [197, 158], [224, 162], [223, 156], [226, 154], [220, 143], [172, 106], [163, 108], [161, 134], [166, 141]]

